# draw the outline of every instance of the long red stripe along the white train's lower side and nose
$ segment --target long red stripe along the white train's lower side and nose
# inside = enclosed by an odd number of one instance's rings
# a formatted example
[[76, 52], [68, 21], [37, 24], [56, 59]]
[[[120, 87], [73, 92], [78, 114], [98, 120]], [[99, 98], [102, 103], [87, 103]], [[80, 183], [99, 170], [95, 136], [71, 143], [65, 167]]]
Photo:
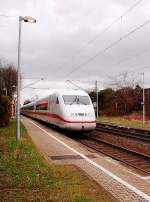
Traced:
[[37, 115], [42, 115], [42, 116], [48, 116], [51, 118], [55, 118], [55, 119], [59, 119], [60, 121], [63, 121], [65, 123], [96, 123], [96, 121], [68, 121], [65, 120], [64, 118], [62, 118], [61, 116], [57, 115], [57, 114], [51, 114], [51, 113], [47, 113], [47, 112], [31, 112], [31, 111], [25, 111], [27, 113], [31, 113], [31, 114], [37, 114]]

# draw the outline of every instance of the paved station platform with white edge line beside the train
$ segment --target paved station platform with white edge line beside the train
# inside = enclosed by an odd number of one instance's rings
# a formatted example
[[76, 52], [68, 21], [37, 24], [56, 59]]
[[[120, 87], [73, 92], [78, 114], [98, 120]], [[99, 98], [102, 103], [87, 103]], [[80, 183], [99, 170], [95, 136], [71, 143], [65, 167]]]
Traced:
[[38, 122], [27, 118], [22, 122], [49, 163], [78, 166], [120, 202], [150, 201], [150, 177], [140, 176]]

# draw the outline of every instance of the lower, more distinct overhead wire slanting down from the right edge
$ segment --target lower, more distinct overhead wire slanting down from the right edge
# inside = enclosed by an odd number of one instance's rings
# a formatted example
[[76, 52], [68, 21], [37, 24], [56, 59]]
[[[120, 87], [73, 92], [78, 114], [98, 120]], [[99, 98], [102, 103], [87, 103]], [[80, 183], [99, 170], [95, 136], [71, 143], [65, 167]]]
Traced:
[[150, 23], [150, 20], [147, 20], [145, 23], [139, 25], [138, 27], [134, 28], [133, 30], [131, 30], [130, 32], [128, 32], [127, 34], [122, 35], [121, 38], [117, 39], [116, 41], [112, 42], [111, 44], [109, 44], [107, 47], [105, 47], [104, 49], [98, 51], [95, 55], [89, 57], [87, 60], [85, 60], [84, 62], [80, 63], [78, 66], [74, 67], [74, 69], [72, 71], [70, 71], [67, 75], [71, 75], [72, 73], [76, 72], [79, 68], [85, 66], [86, 64], [88, 64], [89, 62], [91, 62], [92, 60], [94, 60], [95, 58], [97, 58], [98, 56], [102, 55], [103, 53], [105, 53], [107, 50], [115, 47], [117, 44], [119, 44], [121, 41], [127, 39], [130, 35], [134, 34], [136, 31], [142, 29], [144, 26], [146, 26], [147, 24]]

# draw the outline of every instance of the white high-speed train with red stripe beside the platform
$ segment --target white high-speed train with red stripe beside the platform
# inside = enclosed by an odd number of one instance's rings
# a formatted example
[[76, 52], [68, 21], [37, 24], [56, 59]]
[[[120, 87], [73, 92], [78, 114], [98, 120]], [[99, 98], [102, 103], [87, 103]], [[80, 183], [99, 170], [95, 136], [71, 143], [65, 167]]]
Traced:
[[58, 90], [24, 105], [21, 113], [66, 130], [92, 131], [96, 127], [91, 99], [81, 90]]

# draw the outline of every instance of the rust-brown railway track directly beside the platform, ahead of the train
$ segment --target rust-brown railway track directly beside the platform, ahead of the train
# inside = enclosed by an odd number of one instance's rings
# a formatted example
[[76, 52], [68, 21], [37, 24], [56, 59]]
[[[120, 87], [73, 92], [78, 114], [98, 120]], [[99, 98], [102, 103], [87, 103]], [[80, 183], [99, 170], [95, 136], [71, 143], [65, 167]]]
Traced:
[[97, 152], [103, 153], [113, 159], [125, 163], [145, 174], [150, 175], [150, 156], [141, 154], [138, 151], [131, 151], [110, 142], [95, 139], [92, 134], [84, 135], [82, 138], [75, 138], [81, 144]]

